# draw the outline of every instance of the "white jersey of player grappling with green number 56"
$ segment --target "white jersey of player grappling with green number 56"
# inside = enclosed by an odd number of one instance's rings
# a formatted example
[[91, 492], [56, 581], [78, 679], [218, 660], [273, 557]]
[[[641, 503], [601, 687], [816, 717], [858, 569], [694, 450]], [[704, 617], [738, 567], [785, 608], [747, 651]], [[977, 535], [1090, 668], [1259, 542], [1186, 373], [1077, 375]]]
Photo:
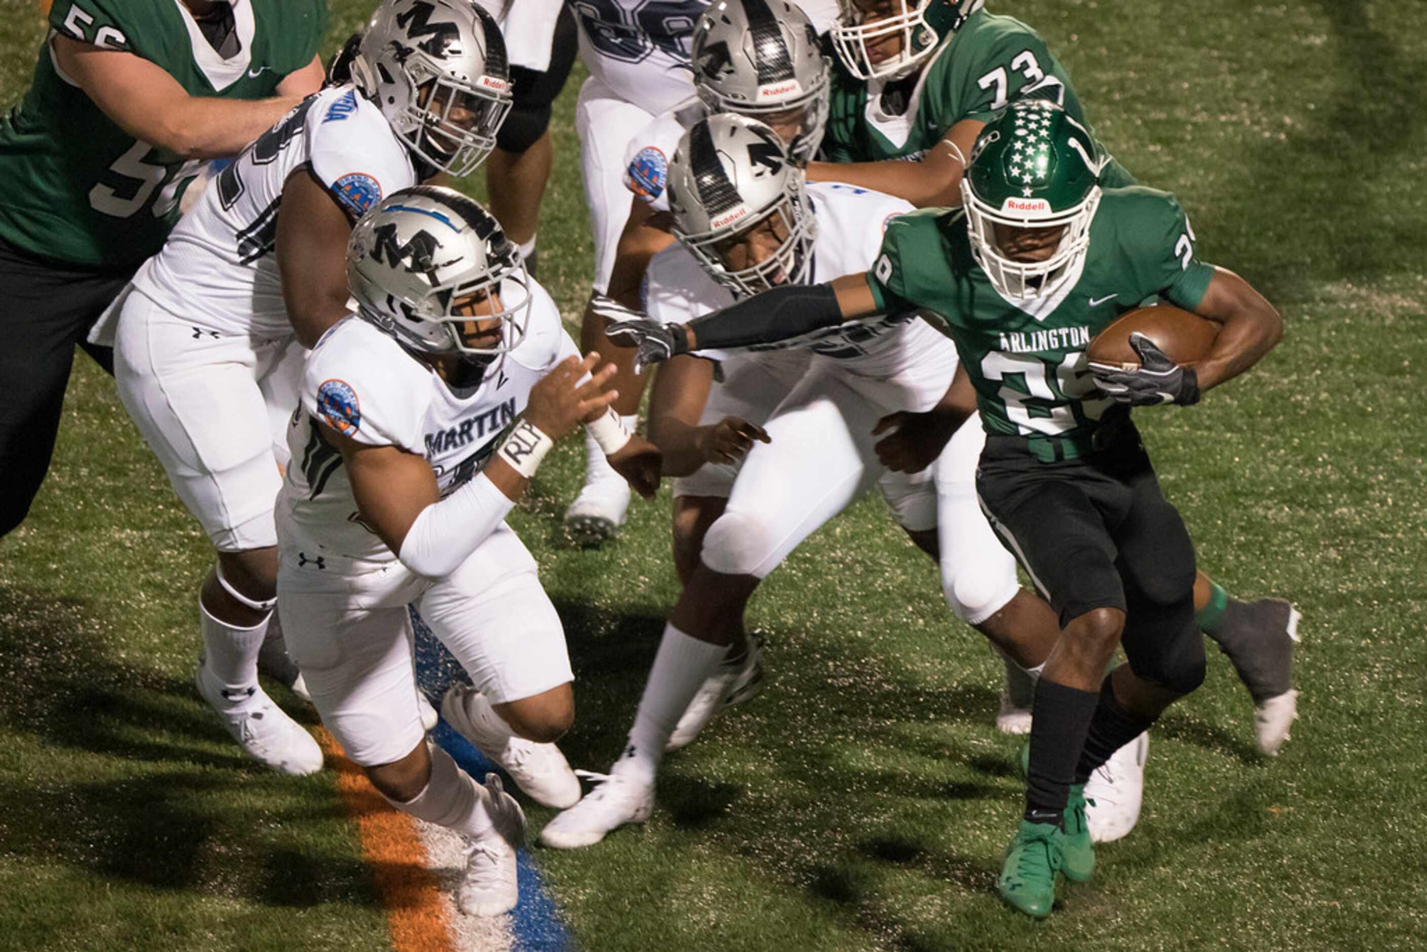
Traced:
[[310, 96], [218, 174], [133, 278], [134, 288], [194, 327], [223, 334], [293, 333], [273, 254], [288, 176], [308, 166], [360, 217], [417, 184], [405, 144], [351, 86]]

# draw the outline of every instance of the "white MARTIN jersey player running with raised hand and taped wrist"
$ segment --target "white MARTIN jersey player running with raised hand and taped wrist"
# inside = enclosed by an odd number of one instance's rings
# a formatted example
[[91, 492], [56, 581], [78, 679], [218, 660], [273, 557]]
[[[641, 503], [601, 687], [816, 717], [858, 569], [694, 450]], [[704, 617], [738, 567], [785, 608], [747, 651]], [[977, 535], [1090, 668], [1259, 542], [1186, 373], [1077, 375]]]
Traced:
[[497, 915], [515, 905], [524, 815], [494, 774], [481, 786], [427, 744], [407, 605], [475, 682], [447, 694], [447, 719], [518, 746], [515, 779], [541, 802], [575, 802], [554, 745], [574, 719], [564, 629], [505, 517], [581, 421], [646, 494], [658, 454], [609, 414], [614, 368], [588, 375], [598, 354], [581, 361], [475, 201], [398, 191], [347, 261], [358, 313], [308, 355], [288, 432], [278, 605], [323, 722], [394, 806], [467, 838], [459, 908]]

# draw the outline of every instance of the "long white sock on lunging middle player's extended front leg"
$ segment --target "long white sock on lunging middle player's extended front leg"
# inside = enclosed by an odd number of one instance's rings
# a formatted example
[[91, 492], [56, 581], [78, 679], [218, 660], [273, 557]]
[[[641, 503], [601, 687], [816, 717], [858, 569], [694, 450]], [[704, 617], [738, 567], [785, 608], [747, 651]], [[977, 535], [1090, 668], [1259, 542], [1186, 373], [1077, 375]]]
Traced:
[[711, 645], [684, 634], [674, 625], [664, 627], [659, 652], [649, 668], [649, 679], [634, 715], [629, 745], [615, 762], [611, 774], [654, 782], [664, 756], [664, 745], [678, 726], [699, 685], [718, 669], [728, 655], [726, 645]]

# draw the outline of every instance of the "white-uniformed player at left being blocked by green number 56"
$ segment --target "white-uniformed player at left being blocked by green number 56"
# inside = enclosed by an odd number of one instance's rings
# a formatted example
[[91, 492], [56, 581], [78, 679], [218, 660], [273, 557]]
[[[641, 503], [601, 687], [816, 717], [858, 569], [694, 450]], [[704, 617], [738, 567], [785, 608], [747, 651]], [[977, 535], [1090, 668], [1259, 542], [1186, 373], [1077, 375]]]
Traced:
[[511, 100], [499, 30], [465, 0], [388, 0], [351, 70], [352, 86], [303, 100], [234, 160], [110, 310], [124, 407], [218, 555], [198, 598], [198, 692], [244, 751], [290, 774], [323, 755], [257, 681], [285, 462], [270, 418], [291, 408], [300, 367], [283, 355], [348, 313], [352, 223], [475, 168]]

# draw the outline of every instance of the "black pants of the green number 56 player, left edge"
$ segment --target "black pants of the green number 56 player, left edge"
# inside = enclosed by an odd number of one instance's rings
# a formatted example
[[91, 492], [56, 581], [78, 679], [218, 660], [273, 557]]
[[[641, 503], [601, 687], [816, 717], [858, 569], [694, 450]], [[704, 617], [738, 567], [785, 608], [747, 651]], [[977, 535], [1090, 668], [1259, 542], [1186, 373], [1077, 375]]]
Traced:
[[84, 335], [133, 273], [47, 261], [0, 240], [0, 535], [24, 521], [50, 468], [74, 345], [114, 373], [114, 351]]

